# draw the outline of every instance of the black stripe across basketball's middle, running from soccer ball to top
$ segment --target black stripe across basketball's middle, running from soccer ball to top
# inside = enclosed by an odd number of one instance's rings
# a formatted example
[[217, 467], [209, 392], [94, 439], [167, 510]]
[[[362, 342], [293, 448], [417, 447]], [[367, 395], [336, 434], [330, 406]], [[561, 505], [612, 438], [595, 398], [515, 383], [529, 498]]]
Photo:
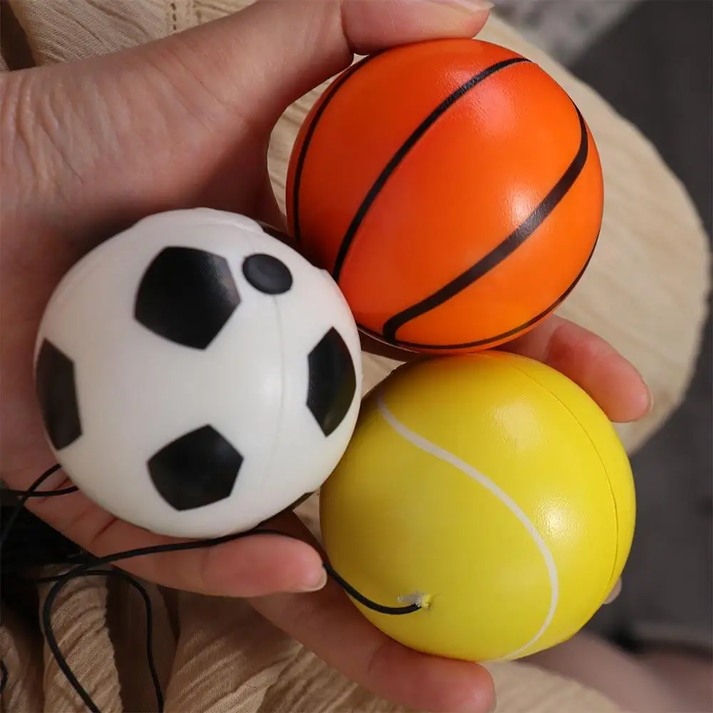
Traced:
[[342, 245], [339, 245], [337, 260], [334, 262], [334, 270], [332, 270], [332, 277], [334, 277], [335, 282], [339, 283], [339, 275], [342, 272], [342, 267], [344, 267], [344, 260], [346, 260], [347, 258], [347, 253], [349, 252], [349, 248], [352, 247], [352, 241], [354, 240], [356, 231], [359, 230], [359, 226], [364, 220], [366, 212], [368, 212], [369, 208], [371, 207], [371, 204], [374, 202], [374, 200], [376, 200], [376, 196], [379, 195], [381, 189], [384, 188], [386, 181], [389, 180], [391, 174], [394, 173], [394, 170], [396, 170], [396, 167], [399, 165], [399, 163], [401, 163], [401, 161], [406, 158], [406, 154], [408, 154], [409, 151], [414, 148], [419, 139], [426, 133], [427, 130], [429, 130], [429, 128], [431, 128], [431, 125], [436, 122], [438, 117], [446, 113], [446, 111], [448, 111], [448, 109], [451, 108], [451, 106], [453, 106], [453, 104], [455, 104], [458, 99], [465, 96], [469, 91], [471, 91], [473, 87], [478, 86], [478, 84], [480, 84], [484, 79], [493, 76], [493, 74], [495, 74], [496, 72], [513, 64], [519, 64], [520, 62], [529, 63], [529, 61], [530, 60], [525, 59], [524, 57], [514, 57], [493, 64], [487, 69], [483, 69], [483, 71], [478, 72], [478, 74], [476, 74], [475, 76], [472, 76], [470, 79], [468, 79], [466, 83], [461, 84], [461, 86], [459, 86], [455, 91], [453, 91], [445, 99], [443, 99], [443, 101], [438, 104], [434, 111], [432, 111], [429, 116], [427, 116], [414, 129], [414, 132], [411, 133], [409, 138], [404, 141], [399, 150], [396, 151], [396, 153], [394, 153], [394, 155], [391, 157], [389, 163], [386, 164], [384, 170], [382, 170], [379, 174], [379, 178], [377, 178], [374, 182], [374, 185], [369, 188], [369, 193], [366, 194], [366, 197], [361, 202], [361, 205], [359, 206], [358, 210], [356, 210], [356, 214], [352, 218], [352, 222], [349, 224], [347, 232], [344, 233], [344, 237], [342, 238]]

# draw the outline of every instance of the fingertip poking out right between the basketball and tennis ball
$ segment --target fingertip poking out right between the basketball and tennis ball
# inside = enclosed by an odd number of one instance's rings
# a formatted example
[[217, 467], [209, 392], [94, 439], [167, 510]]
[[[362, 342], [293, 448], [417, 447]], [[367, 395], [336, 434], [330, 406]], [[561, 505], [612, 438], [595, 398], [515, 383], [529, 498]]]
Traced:
[[562, 372], [615, 423], [637, 421], [652, 408], [651, 393], [635, 367], [604, 339], [568, 319], [550, 317], [500, 348]]

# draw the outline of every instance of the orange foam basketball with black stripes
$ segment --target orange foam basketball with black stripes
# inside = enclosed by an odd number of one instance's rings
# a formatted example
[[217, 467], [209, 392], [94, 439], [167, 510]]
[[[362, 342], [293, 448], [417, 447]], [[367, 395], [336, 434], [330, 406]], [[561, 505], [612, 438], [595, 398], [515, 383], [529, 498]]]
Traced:
[[468, 39], [342, 73], [287, 177], [297, 247], [361, 329], [431, 353], [494, 347], [553, 312], [588, 265], [602, 204], [597, 148], [563, 88]]

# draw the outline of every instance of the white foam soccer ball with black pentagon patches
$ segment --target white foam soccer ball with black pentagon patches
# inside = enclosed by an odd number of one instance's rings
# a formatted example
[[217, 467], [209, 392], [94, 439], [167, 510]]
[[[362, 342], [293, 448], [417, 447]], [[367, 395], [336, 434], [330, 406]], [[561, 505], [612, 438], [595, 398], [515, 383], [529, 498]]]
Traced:
[[356, 324], [327, 272], [266, 230], [216, 210], [154, 215], [51, 297], [35, 361], [46, 435], [118, 518], [248, 530], [319, 488], [347, 447]]

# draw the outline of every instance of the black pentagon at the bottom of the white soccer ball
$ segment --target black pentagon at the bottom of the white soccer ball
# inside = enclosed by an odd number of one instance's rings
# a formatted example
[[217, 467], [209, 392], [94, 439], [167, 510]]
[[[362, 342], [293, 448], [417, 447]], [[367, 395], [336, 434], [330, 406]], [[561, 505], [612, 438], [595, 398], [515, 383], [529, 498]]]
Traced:
[[160, 496], [175, 510], [195, 510], [225, 500], [237, 481], [242, 456], [212, 426], [161, 448], [148, 461]]

